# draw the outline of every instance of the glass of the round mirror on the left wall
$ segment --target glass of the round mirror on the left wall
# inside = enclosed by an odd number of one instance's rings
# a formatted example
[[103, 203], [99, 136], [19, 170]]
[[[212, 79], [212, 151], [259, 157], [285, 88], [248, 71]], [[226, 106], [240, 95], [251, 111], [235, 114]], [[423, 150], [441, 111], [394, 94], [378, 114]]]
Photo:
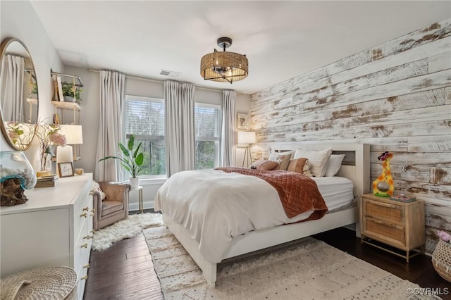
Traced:
[[35, 65], [23, 42], [8, 38], [1, 43], [0, 127], [13, 149], [24, 151], [35, 137], [38, 94]]

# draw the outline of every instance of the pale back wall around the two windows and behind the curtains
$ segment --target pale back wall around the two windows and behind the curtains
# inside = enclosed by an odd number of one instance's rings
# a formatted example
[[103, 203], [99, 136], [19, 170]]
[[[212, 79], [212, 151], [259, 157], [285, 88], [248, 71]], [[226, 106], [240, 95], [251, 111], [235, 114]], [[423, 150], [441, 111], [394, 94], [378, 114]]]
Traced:
[[[82, 99], [80, 107], [80, 124], [83, 128], [83, 144], [80, 146], [81, 161], [74, 162], [74, 168], [83, 168], [85, 172], [94, 173], [96, 164], [97, 135], [99, 132], [99, 73], [88, 71], [85, 68], [66, 66], [66, 74], [77, 75], [82, 78], [85, 85], [80, 95]], [[228, 86], [227, 86], [228, 87]], [[134, 96], [147, 96], [151, 98], [164, 98], [164, 84], [154, 80], [143, 80], [135, 77], [125, 77], [125, 94]], [[207, 104], [221, 105], [223, 101], [222, 91], [212, 89], [196, 89], [196, 101]], [[237, 96], [237, 113], [249, 113], [250, 95], [240, 94]], [[63, 120], [70, 123], [72, 112], [63, 115]], [[242, 161], [243, 149], [237, 149], [237, 162]], [[240, 163], [237, 163], [240, 165]], [[161, 187], [164, 180], [140, 180], [143, 189], [144, 208], [153, 208], [154, 196]], [[138, 209], [137, 191], [130, 194], [130, 210]]]

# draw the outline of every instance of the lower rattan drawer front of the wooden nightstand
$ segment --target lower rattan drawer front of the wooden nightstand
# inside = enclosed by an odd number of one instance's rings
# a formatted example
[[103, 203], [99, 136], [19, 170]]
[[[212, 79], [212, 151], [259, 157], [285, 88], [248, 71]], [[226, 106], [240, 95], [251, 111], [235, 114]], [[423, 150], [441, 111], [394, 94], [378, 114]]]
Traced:
[[405, 246], [405, 229], [402, 226], [387, 224], [381, 220], [364, 218], [365, 235], [376, 236], [379, 239], [393, 244]]

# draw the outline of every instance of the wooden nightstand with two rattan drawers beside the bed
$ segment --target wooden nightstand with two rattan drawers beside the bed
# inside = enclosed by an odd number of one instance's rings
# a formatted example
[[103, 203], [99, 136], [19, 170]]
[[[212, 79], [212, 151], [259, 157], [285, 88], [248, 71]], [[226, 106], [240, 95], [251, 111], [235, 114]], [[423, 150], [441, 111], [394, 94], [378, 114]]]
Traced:
[[[409, 258], [424, 253], [424, 201], [404, 203], [364, 194], [360, 216], [362, 244], [370, 244], [405, 258], [407, 263]], [[402, 254], [383, 244], [400, 249]]]

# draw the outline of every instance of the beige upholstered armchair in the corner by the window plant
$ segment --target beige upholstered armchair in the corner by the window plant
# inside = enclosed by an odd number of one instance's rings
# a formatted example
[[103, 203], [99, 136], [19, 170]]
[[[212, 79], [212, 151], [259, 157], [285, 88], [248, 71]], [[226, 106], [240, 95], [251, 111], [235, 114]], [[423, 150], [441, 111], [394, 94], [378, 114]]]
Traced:
[[100, 192], [93, 192], [92, 201], [95, 209], [94, 230], [111, 225], [128, 217], [128, 193], [130, 185], [120, 182], [98, 182], [102, 192], [106, 194], [101, 199]]

